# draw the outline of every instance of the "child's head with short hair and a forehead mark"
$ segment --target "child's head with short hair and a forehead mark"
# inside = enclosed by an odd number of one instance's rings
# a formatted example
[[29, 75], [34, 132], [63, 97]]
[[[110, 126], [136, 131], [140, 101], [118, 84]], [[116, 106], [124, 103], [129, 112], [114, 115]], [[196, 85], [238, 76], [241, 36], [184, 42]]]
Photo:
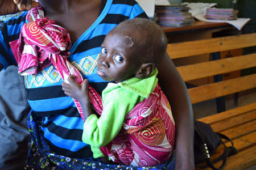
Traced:
[[166, 46], [159, 25], [148, 19], [126, 20], [102, 42], [97, 74], [116, 83], [133, 76], [146, 78], [164, 57]]

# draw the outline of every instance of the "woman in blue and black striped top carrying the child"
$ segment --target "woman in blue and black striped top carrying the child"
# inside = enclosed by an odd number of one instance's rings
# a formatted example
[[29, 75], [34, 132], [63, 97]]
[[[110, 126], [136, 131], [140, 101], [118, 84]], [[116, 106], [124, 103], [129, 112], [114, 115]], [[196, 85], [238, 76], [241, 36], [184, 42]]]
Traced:
[[[30, 8], [30, 1], [15, 2], [22, 10]], [[44, 16], [68, 30], [73, 42], [69, 49], [69, 61], [101, 94], [107, 84], [96, 75], [95, 63], [101, 43], [106, 33], [119, 22], [135, 17], [146, 18], [141, 7], [134, 1], [117, 0], [42, 0], [39, 3]], [[3, 26], [0, 63], [5, 68], [16, 64], [9, 42], [19, 39], [20, 27], [28, 22], [26, 15], [27, 12], [24, 12]], [[171, 103], [177, 127], [176, 169], [193, 169], [193, 115], [187, 88], [167, 54], [158, 69], [159, 83]], [[35, 76], [27, 75], [24, 79], [28, 103], [32, 108], [28, 117], [28, 126], [32, 131], [28, 166], [33, 166], [32, 162], [40, 164], [42, 168], [61, 167], [70, 161], [87, 164], [83, 160], [90, 159], [92, 152], [88, 145], [81, 142], [83, 122], [73, 100], [61, 90], [59, 72], [51, 65]]]

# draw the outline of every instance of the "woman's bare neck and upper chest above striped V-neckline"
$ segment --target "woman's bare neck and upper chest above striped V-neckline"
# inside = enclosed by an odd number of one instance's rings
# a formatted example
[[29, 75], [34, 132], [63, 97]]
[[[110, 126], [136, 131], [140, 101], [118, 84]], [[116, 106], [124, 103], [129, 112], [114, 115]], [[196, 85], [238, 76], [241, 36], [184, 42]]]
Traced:
[[72, 42], [98, 17], [101, 0], [39, 0], [44, 15], [68, 30]]

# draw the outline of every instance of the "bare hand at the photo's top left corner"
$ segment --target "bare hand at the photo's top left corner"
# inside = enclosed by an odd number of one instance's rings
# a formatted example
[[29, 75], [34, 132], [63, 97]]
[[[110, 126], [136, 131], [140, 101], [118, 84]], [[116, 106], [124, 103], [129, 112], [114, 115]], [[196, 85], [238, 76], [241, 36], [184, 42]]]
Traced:
[[14, 14], [38, 6], [32, 0], [0, 0], [0, 15]]

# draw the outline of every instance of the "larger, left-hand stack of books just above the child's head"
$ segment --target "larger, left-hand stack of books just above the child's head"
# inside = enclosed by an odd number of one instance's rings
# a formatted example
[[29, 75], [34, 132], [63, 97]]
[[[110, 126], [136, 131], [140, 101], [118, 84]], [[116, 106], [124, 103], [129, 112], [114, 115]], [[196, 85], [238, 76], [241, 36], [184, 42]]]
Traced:
[[195, 19], [183, 5], [155, 6], [155, 13], [159, 25], [168, 27], [183, 27], [191, 25]]

